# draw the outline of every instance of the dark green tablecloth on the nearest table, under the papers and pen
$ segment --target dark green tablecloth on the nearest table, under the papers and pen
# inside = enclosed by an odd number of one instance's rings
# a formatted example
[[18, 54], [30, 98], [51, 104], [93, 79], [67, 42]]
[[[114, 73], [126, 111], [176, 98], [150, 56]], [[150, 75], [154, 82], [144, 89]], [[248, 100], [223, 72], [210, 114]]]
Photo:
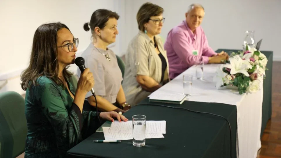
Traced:
[[[152, 104], [148, 99], [142, 104]], [[236, 106], [185, 101], [184, 107], [224, 116], [232, 128], [232, 158], [236, 157]], [[131, 120], [135, 114], [147, 116], [147, 120], [166, 120], [165, 138], [146, 139], [144, 147], [134, 147], [132, 140], [122, 143], [94, 143], [104, 139], [96, 132], [67, 152], [68, 157], [192, 157], [226, 158], [230, 156], [230, 132], [227, 122], [220, 117], [193, 113], [182, 109], [138, 105], [124, 115]]]

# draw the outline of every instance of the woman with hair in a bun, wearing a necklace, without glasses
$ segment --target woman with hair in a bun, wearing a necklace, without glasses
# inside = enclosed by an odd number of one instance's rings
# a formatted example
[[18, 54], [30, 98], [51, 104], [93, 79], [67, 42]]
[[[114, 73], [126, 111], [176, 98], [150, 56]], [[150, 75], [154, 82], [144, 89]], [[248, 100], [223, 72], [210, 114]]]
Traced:
[[[99, 111], [116, 111], [125, 113], [131, 108], [126, 101], [121, 82], [122, 72], [118, 66], [117, 57], [108, 45], [115, 42], [117, 20], [119, 15], [107, 9], [96, 10], [90, 22], [84, 24], [85, 31], [91, 31], [92, 42], [82, 53], [86, 68], [90, 69], [95, 77], [97, 101], [91, 92], [87, 93], [86, 100], [91, 105], [89, 111], [95, 111], [96, 102]], [[77, 68], [77, 74], [80, 76]]]

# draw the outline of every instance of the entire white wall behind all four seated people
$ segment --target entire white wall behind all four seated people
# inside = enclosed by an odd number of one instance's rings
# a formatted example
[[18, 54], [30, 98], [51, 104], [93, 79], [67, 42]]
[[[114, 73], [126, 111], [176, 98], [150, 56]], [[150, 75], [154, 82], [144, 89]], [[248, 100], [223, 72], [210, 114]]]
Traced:
[[[119, 35], [111, 49], [117, 55], [125, 54], [129, 40], [138, 32], [136, 13], [148, 0], [0, 0], [0, 80], [10, 78], [0, 90], [24, 93], [19, 85], [19, 74], [29, 62], [35, 30], [45, 22], [65, 23], [75, 37], [79, 38], [77, 56], [90, 43], [90, 32], [83, 30], [83, 24], [90, 21], [96, 9], [106, 8], [120, 15]], [[161, 36], [185, 19], [184, 13], [191, 3], [201, 3], [205, 8], [202, 27], [214, 49], [241, 49], [244, 32], [255, 30], [255, 39], [263, 38], [262, 50], [272, 50], [273, 60], [281, 61], [279, 46], [281, 28], [281, 1], [271, 0], [150, 0], [164, 8], [164, 23]], [[75, 71], [72, 65], [70, 70]]]

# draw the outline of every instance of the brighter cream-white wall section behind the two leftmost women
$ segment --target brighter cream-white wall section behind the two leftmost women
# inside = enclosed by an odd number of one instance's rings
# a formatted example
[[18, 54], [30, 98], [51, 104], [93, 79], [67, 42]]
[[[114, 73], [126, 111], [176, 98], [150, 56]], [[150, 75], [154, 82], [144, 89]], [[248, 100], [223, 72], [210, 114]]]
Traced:
[[[90, 21], [92, 13], [99, 8], [121, 12], [122, 22], [125, 20], [123, 5], [125, 0], [0, 0], [0, 80], [8, 79], [8, 84], [0, 93], [8, 90], [25, 93], [20, 88], [19, 75], [28, 66], [33, 35], [38, 26], [57, 21], [66, 24], [79, 38], [79, 56], [91, 42], [90, 31], [84, 31], [83, 24]], [[124, 22], [118, 24], [120, 34], [124, 28], [122, 25]], [[112, 49], [120, 55], [118, 41], [120, 36], [117, 36]], [[71, 66], [70, 70], [76, 70], [75, 66]]]

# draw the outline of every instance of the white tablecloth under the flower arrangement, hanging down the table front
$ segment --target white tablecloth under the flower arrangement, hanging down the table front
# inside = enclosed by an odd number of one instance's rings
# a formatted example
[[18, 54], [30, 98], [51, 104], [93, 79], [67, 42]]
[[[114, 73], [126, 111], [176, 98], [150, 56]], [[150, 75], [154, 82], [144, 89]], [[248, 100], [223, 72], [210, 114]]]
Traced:
[[195, 78], [195, 67], [191, 67], [168, 84], [156, 90], [154, 94], [184, 93], [183, 75], [193, 75], [192, 95], [187, 100], [195, 102], [216, 102], [237, 106], [237, 158], [256, 158], [261, 148], [260, 132], [262, 127], [263, 82], [257, 93], [239, 95], [226, 88], [216, 89], [213, 77], [218, 64], [204, 65], [204, 79]]

